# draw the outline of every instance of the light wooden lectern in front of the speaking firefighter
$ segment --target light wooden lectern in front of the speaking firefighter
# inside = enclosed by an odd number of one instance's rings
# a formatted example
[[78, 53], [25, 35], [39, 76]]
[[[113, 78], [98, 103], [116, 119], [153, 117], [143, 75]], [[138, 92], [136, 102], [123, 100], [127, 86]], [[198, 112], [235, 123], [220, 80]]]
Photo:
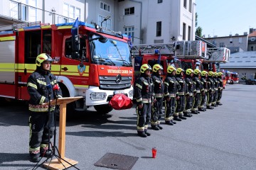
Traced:
[[[44, 163], [43, 165], [46, 166], [48, 169], [52, 169], [52, 170], [66, 169], [72, 165], [78, 164], [77, 161], [65, 158], [65, 123], [66, 123], [67, 104], [73, 101], [76, 101], [80, 98], [82, 98], [82, 96], [58, 98], [57, 100], [50, 101], [50, 105], [60, 106], [60, 128], [59, 128], [60, 133], [59, 133], [59, 140], [58, 140], [58, 151], [60, 153], [61, 159], [57, 158], [57, 159], [53, 159], [51, 162]], [[48, 105], [48, 103], [44, 103], [44, 104]], [[62, 159], [64, 159], [66, 162]]]

